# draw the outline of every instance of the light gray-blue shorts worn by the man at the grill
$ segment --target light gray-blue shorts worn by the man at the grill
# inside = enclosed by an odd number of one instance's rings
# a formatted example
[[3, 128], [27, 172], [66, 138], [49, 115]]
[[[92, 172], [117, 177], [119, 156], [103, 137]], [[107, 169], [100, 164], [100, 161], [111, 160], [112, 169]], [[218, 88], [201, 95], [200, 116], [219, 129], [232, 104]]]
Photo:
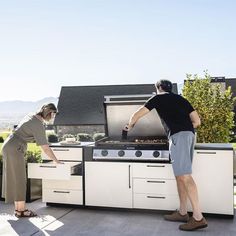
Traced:
[[175, 176], [192, 174], [195, 135], [181, 131], [169, 138], [170, 158]]

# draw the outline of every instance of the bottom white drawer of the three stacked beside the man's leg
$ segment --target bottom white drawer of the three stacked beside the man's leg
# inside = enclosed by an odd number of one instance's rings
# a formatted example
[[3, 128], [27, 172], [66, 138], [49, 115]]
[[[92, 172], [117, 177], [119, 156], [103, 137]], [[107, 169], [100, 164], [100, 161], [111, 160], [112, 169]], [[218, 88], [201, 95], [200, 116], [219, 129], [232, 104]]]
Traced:
[[177, 195], [134, 194], [134, 208], [175, 210], [179, 207]]

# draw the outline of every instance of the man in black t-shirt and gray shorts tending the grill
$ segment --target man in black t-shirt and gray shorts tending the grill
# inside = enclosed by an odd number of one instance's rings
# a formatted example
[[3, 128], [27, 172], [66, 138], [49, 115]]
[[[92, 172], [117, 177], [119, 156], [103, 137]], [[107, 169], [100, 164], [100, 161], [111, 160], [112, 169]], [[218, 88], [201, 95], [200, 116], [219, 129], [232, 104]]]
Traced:
[[[203, 217], [197, 186], [192, 178], [192, 158], [194, 149], [194, 128], [200, 125], [198, 113], [182, 96], [172, 93], [172, 83], [160, 80], [156, 83], [157, 95], [150, 98], [130, 118], [125, 130], [129, 131], [136, 122], [152, 109], [156, 109], [169, 137], [169, 150], [173, 171], [176, 177], [180, 207], [165, 220], [185, 222], [179, 226], [180, 230], [192, 231], [207, 227]], [[190, 200], [193, 215], [187, 212], [187, 199]]]

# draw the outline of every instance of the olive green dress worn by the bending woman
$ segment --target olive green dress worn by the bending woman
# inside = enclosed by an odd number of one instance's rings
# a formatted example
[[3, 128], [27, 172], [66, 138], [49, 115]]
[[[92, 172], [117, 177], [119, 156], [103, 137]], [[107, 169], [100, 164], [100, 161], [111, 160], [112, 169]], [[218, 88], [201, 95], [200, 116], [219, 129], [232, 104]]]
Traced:
[[26, 199], [27, 176], [24, 155], [27, 143], [32, 141], [37, 145], [48, 144], [44, 125], [34, 114], [27, 115], [2, 146], [2, 197], [7, 203]]

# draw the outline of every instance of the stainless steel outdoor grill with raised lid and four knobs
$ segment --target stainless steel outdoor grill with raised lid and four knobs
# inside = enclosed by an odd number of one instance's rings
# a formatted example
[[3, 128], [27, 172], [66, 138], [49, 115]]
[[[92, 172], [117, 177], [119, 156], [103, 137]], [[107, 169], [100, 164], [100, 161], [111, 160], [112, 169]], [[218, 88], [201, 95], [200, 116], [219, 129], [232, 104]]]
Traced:
[[169, 145], [161, 119], [153, 109], [132, 130], [123, 131], [130, 116], [153, 96], [105, 96], [105, 134], [93, 148], [94, 160], [135, 160], [169, 162]]

